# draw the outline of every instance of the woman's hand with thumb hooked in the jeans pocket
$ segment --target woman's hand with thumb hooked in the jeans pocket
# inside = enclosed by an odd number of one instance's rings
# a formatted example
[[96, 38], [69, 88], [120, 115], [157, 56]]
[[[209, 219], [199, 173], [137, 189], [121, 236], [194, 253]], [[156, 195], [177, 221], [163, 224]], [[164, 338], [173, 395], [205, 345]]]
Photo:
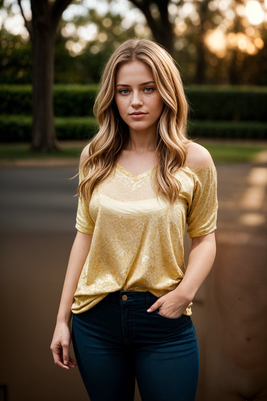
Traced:
[[168, 294], [160, 297], [147, 312], [154, 312], [159, 309], [159, 314], [166, 316], [167, 318], [179, 318], [185, 312], [186, 308], [189, 306], [190, 301], [185, 297], [181, 296], [179, 293], [171, 291]]

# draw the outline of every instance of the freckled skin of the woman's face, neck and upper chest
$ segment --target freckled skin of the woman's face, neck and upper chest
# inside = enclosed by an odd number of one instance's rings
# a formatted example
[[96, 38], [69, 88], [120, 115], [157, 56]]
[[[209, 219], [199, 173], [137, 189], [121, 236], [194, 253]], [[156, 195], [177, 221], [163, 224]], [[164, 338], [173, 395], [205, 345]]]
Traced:
[[[146, 85], [140, 85], [147, 82], [149, 83]], [[123, 85], [117, 86], [118, 84]], [[118, 162], [126, 170], [138, 175], [150, 170], [158, 162], [155, 143], [164, 101], [157, 90], [150, 67], [134, 61], [118, 68], [114, 98], [118, 112], [129, 128], [129, 141], [121, 150]], [[134, 119], [130, 117], [130, 113], [135, 111], [142, 111], [146, 115]]]

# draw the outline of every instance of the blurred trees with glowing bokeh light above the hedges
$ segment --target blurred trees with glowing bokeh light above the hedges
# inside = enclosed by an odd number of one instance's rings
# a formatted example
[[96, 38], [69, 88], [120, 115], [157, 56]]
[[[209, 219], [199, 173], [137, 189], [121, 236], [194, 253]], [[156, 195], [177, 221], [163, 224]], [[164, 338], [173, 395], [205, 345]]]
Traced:
[[[139, 3], [161, 22], [156, 2]], [[169, 1], [173, 57], [184, 83], [266, 85], [266, 6], [266, 0]], [[30, 20], [30, 2], [22, 7]], [[31, 83], [31, 43], [15, 0], [0, 1], [0, 22], [0, 82]], [[132, 2], [72, 1], [56, 30], [55, 83], [97, 83], [112, 51], [133, 36], [155, 35]]]

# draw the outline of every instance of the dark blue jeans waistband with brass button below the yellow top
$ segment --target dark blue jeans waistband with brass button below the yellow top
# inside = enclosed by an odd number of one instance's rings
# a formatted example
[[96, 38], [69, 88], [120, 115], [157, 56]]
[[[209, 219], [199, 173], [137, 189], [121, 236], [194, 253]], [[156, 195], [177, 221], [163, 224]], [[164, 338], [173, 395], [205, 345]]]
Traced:
[[105, 296], [106, 300], [122, 305], [146, 304], [151, 306], [158, 298], [150, 291], [122, 291], [110, 292]]

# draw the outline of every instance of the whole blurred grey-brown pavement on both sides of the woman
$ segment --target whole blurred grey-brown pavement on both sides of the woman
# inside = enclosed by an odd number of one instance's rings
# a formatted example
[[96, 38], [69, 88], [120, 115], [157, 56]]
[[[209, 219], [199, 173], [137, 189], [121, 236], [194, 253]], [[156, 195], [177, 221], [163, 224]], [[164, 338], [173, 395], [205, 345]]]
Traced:
[[[251, 379], [255, 371], [250, 375], [249, 369], [244, 367], [247, 360], [240, 362], [240, 353], [256, 355], [253, 363], [257, 366], [259, 351], [261, 355], [266, 352], [266, 341], [262, 340], [267, 334], [266, 326], [257, 326], [256, 332], [246, 333], [244, 327], [247, 328], [250, 322], [244, 325], [239, 318], [243, 318], [242, 310], [245, 310], [247, 316], [260, 322], [267, 306], [266, 296], [262, 293], [262, 284], [266, 283], [267, 166], [217, 164], [216, 167], [219, 202], [215, 231], [217, 255], [213, 270], [192, 307], [201, 358], [197, 401], [213, 401], [218, 386], [223, 394], [223, 386], [228, 384], [238, 394], [233, 399], [242, 401], [249, 391], [252, 397], [261, 383]], [[1, 305], [2, 321], [5, 322], [1, 331], [1, 344], [5, 344], [1, 353], [1, 378], [2, 383], [8, 385], [9, 401], [46, 401], [48, 395], [52, 401], [88, 399], [78, 371], [62, 371], [56, 367], [49, 349], [76, 233], [78, 198], [73, 195], [78, 177], [67, 180], [74, 174], [75, 167], [5, 167], [0, 170]], [[186, 240], [185, 262], [188, 250]], [[240, 277], [245, 277], [245, 282]], [[240, 291], [242, 295], [245, 291], [244, 300], [236, 298]], [[250, 309], [248, 301], [252, 305]], [[223, 322], [221, 327], [220, 322]], [[231, 346], [229, 338], [228, 342], [222, 341], [222, 334], [227, 338], [224, 326], [234, 329]], [[240, 336], [235, 336], [236, 332]], [[244, 336], [249, 338], [245, 344], [242, 342]], [[254, 345], [251, 338], [255, 340]], [[239, 352], [231, 361], [231, 369], [223, 365], [221, 346], [231, 349], [231, 354], [236, 349]], [[226, 358], [229, 360], [229, 355]], [[224, 384], [218, 381], [221, 369], [226, 372]], [[249, 389], [245, 388], [244, 375], [240, 374], [243, 369], [248, 372], [245, 382], [253, 382]], [[228, 373], [231, 373], [234, 384], [230, 383]], [[261, 370], [257, 371], [260, 379], [264, 379], [264, 375]], [[227, 401], [232, 399], [231, 395], [227, 397]], [[136, 388], [135, 401], [139, 399]], [[216, 399], [219, 400], [219, 395]]]

